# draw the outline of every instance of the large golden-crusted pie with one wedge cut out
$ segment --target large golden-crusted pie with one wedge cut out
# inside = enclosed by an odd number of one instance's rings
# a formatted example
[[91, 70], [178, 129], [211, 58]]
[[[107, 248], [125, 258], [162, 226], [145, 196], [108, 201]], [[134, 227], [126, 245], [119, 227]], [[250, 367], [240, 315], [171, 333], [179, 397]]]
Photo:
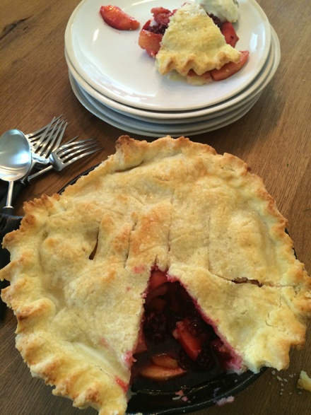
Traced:
[[[61, 194], [25, 203], [19, 230], [4, 238], [2, 298], [31, 373], [75, 407], [124, 414], [146, 305], [159, 306], [163, 284], [191, 300], [225, 370], [287, 368], [291, 347], [305, 342], [311, 284], [262, 180], [184, 137], [121, 136], [116, 147]], [[192, 317], [175, 322], [177, 342]], [[174, 363], [153, 356], [156, 367], [163, 360]]]

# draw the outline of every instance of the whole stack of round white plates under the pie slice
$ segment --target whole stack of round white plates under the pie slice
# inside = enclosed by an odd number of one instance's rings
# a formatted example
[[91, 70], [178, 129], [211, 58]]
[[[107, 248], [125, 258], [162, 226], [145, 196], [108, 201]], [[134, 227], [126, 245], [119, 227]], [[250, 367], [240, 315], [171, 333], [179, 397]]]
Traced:
[[[190, 0], [192, 1], [192, 0]], [[170, 9], [184, 1], [171, 0]], [[115, 0], [141, 25], [163, 0]], [[65, 57], [71, 87], [90, 112], [134, 134], [158, 137], [201, 134], [245, 115], [257, 102], [280, 62], [278, 37], [254, 0], [239, 0], [236, 48], [250, 52], [247, 64], [224, 81], [192, 86], [161, 76], [138, 45], [139, 30], [121, 31], [100, 16], [102, 0], [83, 0], [69, 19]]]

